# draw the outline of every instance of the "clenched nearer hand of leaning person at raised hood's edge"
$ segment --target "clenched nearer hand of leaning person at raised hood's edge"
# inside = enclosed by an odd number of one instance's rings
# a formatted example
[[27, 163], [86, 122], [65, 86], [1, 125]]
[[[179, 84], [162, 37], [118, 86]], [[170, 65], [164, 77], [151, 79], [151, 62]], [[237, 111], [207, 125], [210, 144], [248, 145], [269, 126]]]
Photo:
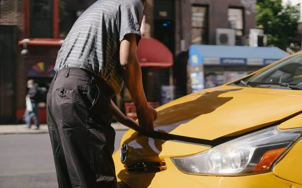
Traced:
[[138, 108], [136, 114], [140, 128], [147, 132], [154, 131], [153, 121], [157, 118], [157, 112], [153, 107], [148, 105], [144, 108]]

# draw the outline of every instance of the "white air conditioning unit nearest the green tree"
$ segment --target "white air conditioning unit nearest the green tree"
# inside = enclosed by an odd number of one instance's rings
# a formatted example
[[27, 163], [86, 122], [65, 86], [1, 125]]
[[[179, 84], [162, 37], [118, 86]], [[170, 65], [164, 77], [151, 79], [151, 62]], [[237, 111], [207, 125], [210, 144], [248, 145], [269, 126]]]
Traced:
[[267, 36], [262, 29], [249, 30], [249, 46], [267, 46]]

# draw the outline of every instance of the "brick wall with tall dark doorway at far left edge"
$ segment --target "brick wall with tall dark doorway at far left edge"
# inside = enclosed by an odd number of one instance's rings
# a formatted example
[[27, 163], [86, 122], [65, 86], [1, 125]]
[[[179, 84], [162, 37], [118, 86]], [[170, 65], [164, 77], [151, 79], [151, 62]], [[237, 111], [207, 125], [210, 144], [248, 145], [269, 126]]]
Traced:
[[23, 1], [0, 1], [0, 123], [14, 123], [16, 110], [24, 108], [25, 65], [17, 45], [24, 38], [23, 11]]

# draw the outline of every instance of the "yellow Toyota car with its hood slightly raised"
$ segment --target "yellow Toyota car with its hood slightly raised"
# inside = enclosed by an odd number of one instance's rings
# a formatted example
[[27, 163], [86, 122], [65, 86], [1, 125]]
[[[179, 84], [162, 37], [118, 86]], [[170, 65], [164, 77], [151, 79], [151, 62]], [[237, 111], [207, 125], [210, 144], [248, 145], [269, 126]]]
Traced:
[[302, 53], [156, 109], [114, 153], [120, 187], [302, 187]]

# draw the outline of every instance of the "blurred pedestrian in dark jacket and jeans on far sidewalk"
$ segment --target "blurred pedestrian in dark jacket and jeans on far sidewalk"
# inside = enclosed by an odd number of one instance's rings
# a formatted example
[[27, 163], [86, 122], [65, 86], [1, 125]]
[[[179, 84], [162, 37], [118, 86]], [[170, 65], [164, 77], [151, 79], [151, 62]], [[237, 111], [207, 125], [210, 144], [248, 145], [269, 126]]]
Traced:
[[[25, 122], [27, 124], [27, 128], [31, 128], [31, 118], [34, 117], [35, 124], [36, 124], [36, 130], [39, 129], [40, 127], [40, 122], [39, 122], [39, 114], [38, 114], [38, 109], [39, 109], [39, 102], [37, 100], [37, 97], [39, 95], [38, 93], [38, 85], [35, 84], [34, 80], [29, 80], [27, 81], [27, 110], [25, 112]], [[28, 100], [30, 99], [30, 100]], [[31, 102], [31, 104], [29, 104]], [[31, 105], [31, 106], [30, 106]]]

